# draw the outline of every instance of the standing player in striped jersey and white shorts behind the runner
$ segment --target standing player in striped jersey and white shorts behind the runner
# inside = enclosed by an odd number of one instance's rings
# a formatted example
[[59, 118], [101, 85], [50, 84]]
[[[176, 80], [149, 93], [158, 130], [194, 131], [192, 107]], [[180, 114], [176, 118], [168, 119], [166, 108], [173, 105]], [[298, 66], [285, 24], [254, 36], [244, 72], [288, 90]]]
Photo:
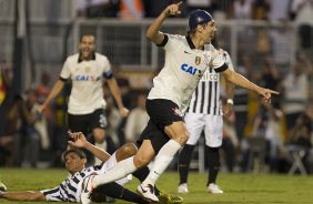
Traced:
[[[215, 49], [219, 49], [216, 44], [216, 34], [212, 44]], [[222, 49], [219, 49], [219, 53], [224, 58], [229, 69], [233, 71], [234, 69], [230, 54]], [[204, 131], [205, 136], [205, 157], [209, 165], [206, 191], [214, 194], [223, 193], [223, 191], [216, 185], [216, 177], [220, 169], [219, 149], [222, 145], [223, 140], [222, 115], [230, 116], [232, 114], [234, 86], [230, 82], [225, 83], [228, 100], [223, 106], [220, 98], [220, 88], [221, 74], [215, 72], [212, 68], [209, 68], [204, 72], [198, 88], [192, 94], [190, 105], [184, 115], [184, 121], [190, 136], [185, 145], [180, 151], [179, 156], [179, 193], [189, 193], [189, 165], [193, 149], [198, 143], [202, 131]]]

